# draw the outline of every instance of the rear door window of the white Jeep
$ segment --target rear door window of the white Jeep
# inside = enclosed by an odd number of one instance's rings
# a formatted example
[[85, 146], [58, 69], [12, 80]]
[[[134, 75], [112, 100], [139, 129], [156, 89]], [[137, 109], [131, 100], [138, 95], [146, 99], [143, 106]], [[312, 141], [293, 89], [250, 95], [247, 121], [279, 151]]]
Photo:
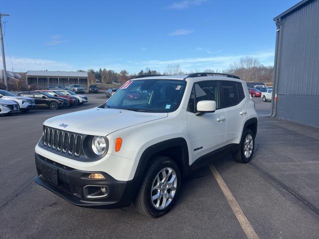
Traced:
[[241, 100], [239, 98], [238, 85], [234, 81], [222, 81], [222, 104], [221, 107], [231, 107], [237, 105]]

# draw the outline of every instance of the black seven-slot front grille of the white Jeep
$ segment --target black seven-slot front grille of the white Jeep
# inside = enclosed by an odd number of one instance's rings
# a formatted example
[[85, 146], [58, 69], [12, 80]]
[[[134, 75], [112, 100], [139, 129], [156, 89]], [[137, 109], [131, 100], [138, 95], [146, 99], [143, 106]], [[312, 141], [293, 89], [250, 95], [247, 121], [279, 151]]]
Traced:
[[58, 150], [65, 154], [80, 156], [81, 143], [81, 134], [46, 126], [43, 128], [43, 144], [45, 147]]

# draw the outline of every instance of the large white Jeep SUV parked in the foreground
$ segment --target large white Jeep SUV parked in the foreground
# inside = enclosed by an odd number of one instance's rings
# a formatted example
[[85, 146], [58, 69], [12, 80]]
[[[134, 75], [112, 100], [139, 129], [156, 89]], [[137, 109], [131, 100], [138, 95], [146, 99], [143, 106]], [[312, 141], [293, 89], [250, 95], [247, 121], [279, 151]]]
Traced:
[[[130, 97], [143, 92], [149, 97]], [[257, 121], [236, 76], [141, 76], [100, 107], [47, 119], [35, 146], [35, 181], [78, 206], [134, 202], [160, 217], [194, 169], [226, 154], [249, 162]]]

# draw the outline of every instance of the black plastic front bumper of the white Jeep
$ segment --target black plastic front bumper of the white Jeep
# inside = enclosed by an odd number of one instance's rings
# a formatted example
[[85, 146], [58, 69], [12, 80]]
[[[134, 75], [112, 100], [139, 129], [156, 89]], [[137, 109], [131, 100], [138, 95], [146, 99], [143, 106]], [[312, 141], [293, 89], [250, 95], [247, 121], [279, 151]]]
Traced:
[[[68, 202], [81, 207], [122, 208], [130, 206], [136, 193], [136, 183], [131, 181], [119, 181], [105, 172], [88, 172], [70, 168], [56, 163], [35, 153], [35, 165], [38, 176], [35, 182], [50, 190]], [[43, 170], [50, 167], [57, 174], [50, 182]], [[101, 173], [105, 179], [88, 179], [91, 173]], [[103, 198], [91, 199], [85, 197], [84, 187], [105, 186], [108, 194]]]

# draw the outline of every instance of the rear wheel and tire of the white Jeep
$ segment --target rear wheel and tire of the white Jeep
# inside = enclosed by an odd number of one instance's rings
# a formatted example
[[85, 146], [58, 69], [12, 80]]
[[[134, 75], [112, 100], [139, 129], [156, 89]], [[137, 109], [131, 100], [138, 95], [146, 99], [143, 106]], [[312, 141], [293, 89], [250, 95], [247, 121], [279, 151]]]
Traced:
[[[247, 141], [249, 140], [249, 141]], [[233, 154], [233, 157], [238, 163], [248, 163], [253, 157], [255, 149], [254, 133], [246, 128], [239, 144], [239, 149]]]

